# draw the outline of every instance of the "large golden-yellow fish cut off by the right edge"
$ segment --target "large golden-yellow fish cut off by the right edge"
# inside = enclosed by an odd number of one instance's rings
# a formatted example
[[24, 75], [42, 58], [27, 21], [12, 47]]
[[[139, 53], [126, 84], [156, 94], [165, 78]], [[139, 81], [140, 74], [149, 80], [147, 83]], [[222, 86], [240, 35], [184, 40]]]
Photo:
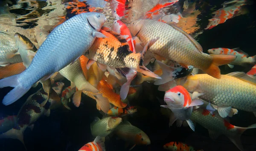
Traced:
[[221, 75], [221, 79], [207, 74], [188, 76], [183, 87], [190, 93], [204, 93], [199, 98], [218, 105], [221, 117], [226, 117], [231, 107], [248, 112], [256, 111], [256, 79], [242, 72]]

